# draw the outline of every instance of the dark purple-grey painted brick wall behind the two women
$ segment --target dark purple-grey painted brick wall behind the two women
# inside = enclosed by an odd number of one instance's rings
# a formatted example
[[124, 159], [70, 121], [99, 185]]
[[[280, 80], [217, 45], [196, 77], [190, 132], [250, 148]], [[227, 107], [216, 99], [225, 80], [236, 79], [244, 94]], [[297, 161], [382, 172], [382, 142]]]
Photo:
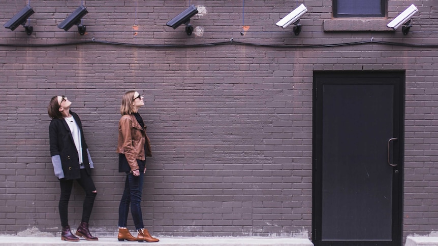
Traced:
[[[89, 12], [85, 35], [76, 26], [57, 28], [81, 2]], [[274, 25], [301, 3], [309, 12], [299, 36], [292, 26]], [[26, 4], [0, 1], [1, 22]], [[183, 25], [165, 25], [189, 4], [203, 7], [192, 18], [192, 36]], [[409, 4], [388, 1], [389, 17]], [[140, 113], [153, 148], [143, 213], [154, 235], [310, 237], [312, 73], [333, 70], [406, 71], [403, 233], [438, 230], [436, 48], [300, 46], [435, 44], [438, 2], [415, 4], [420, 11], [403, 36], [325, 32], [327, 0], [31, 1], [32, 35], [22, 26], [0, 28], [0, 231], [59, 233], [47, 104], [66, 95], [96, 166], [90, 224], [96, 234], [115, 233], [123, 187], [115, 153], [119, 104], [135, 89], [145, 95]], [[218, 42], [225, 44], [202, 46]], [[71, 225], [80, 221], [82, 199], [75, 187]]]

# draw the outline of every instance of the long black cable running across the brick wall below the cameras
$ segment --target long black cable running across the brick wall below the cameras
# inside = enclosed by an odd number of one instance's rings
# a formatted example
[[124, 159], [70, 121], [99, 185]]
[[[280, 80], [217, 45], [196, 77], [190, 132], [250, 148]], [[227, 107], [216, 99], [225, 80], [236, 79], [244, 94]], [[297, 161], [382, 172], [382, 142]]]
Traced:
[[256, 46], [267, 48], [324, 48], [324, 47], [340, 47], [340, 46], [355, 46], [355, 45], [367, 45], [367, 44], [380, 44], [389, 46], [401, 46], [401, 47], [415, 47], [415, 48], [438, 48], [438, 44], [406, 44], [387, 41], [376, 41], [374, 39], [368, 41], [357, 41], [348, 43], [336, 43], [336, 44], [312, 44], [312, 45], [274, 45], [274, 44], [256, 44], [239, 42], [230, 39], [226, 42], [206, 43], [206, 44], [185, 44], [185, 45], [162, 45], [162, 44], [132, 44], [132, 43], [119, 43], [111, 41], [97, 41], [93, 38], [91, 41], [80, 41], [71, 43], [58, 43], [58, 44], [0, 44], [2, 47], [58, 47], [58, 46], [71, 46], [71, 45], [87, 45], [87, 44], [102, 44], [102, 45], [114, 45], [114, 46], [129, 46], [138, 48], [197, 48], [208, 46], [221, 46], [221, 45], [240, 45], [240, 46]]

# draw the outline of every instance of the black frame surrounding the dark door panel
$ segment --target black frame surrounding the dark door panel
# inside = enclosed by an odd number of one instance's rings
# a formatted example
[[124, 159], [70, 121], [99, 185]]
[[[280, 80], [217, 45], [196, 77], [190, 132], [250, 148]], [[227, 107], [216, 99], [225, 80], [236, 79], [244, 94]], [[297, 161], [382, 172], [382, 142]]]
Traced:
[[[335, 79], [339, 78], [342, 80], [353, 79], [354, 78], [397, 78], [398, 79], [398, 90], [394, 91], [394, 103], [397, 101], [399, 105], [398, 112], [394, 112], [395, 115], [398, 114], [399, 122], [398, 122], [398, 171], [399, 173], [397, 179], [393, 179], [393, 186], [397, 186], [398, 190], [394, 192], [394, 201], [398, 201], [397, 204], [393, 204], [392, 206], [392, 216], [393, 216], [393, 228], [392, 228], [392, 240], [387, 241], [361, 241], [356, 245], [402, 245], [403, 242], [403, 163], [404, 163], [404, 95], [405, 95], [405, 72], [404, 71], [314, 71], [314, 79], [312, 85], [312, 242], [316, 246], [325, 246], [325, 245], [351, 245], [351, 241], [322, 241], [321, 237], [321, 218], [322, 218], [322, 185], [321, 185], [321, 177], [322, 174], [318, 174], [316, 171], [317, 168], [317, 154], [320, 151], [319, 148], [322, 146], [317, 146], [317, 144], [321, 144], [319, 141], [322, 133], [318, 132], [319, 115], [321, 115], [322, 109], [318, 108], [318, 84], [321, 83], [322, 79]], [[343, 84], [351, 84], [353, 82], [342, 82]], [[394, 104], [395, 105], [395, 104]], [[319, 112], [320, 111], [320, 112]], [[396, 222], [396, 224], [394, 224]]]

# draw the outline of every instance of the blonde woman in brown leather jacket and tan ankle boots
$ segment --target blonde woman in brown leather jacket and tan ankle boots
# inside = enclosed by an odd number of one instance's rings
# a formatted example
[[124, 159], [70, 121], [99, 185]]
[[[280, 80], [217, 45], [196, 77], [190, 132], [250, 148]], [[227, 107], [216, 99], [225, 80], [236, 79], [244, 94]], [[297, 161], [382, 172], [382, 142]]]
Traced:
[[[146, 135], [146, 126], [138, 113], [143, 105], [143, 96], [137, 91], [124, 93], [120, 107], [122, 116], [118, 124], [117, 144], [117, 153], [119, 153], [118, 170], [126, 174], [118, 212], [119, 233], [117, 239], [119, 241], [159, 241], [159, 239], [153, 238], [144, 228], [141, 213], [143, 177], [146, 172], [145, 157], [152, 156], [149, 138]], [[126, 227], [130, 206], [134, 225], [138, 231], [137, 238], [132, 236]]]

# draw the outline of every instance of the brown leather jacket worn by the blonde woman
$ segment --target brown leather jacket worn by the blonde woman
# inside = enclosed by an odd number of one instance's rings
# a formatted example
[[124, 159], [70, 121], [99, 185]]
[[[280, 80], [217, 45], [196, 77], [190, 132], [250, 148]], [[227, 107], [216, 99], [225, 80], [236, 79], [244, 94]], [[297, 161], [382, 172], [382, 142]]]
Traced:
[[[147, 153], [144, 153], [145, 144]], [[117, 153], [126, 156], [131, 170], [139, 169], [137, 159], [143, 161], [145, 156], [152, 156], [146, 127], [142, 129], [134, 115], [123, 115], [118, 122]]]

